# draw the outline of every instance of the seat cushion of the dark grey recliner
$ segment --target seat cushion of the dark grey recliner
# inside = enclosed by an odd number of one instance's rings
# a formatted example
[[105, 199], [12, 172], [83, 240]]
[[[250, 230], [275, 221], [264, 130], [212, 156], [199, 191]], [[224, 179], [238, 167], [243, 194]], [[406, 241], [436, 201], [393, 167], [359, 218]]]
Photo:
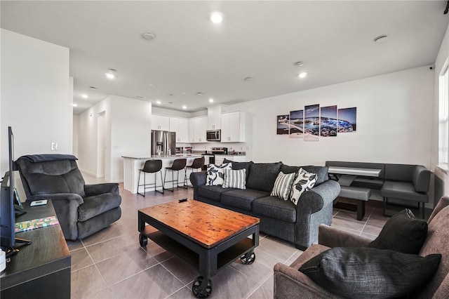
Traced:
[[104, 193], [93, 197], [84, 197], [84, 203], [78, 207], [78, 221], [86, 221], [120, 206], [121, 196], [118, 193]]

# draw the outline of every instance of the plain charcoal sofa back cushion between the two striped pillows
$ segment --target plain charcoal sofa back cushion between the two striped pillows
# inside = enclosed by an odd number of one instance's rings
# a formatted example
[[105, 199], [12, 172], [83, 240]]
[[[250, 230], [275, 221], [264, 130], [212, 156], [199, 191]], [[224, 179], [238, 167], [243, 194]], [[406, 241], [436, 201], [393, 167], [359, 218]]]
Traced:
[[250, 164], [250, 174], [246, 180], [246, 188], [272, 192], [274, 181], [281, 171], [282, 162]]

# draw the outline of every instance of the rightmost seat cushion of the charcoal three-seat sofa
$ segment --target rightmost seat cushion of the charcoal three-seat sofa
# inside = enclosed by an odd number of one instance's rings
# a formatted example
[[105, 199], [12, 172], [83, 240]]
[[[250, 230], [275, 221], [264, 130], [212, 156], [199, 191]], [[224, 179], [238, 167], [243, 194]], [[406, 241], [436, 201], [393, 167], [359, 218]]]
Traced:
[[296, 206], [279, 197], [262, 197], [253, 201], [253, 213], [287, 222], [296, 222]]

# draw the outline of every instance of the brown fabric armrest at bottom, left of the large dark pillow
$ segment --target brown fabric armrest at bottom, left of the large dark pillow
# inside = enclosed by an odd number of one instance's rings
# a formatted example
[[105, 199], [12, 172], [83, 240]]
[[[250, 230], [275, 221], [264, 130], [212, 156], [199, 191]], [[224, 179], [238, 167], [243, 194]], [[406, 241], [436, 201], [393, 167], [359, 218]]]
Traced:
[[274, 265], [274, 298], [327, 299], [343, 297], [330, 293], [315, 284], [306, 274], [297, 269], [277, 263]]

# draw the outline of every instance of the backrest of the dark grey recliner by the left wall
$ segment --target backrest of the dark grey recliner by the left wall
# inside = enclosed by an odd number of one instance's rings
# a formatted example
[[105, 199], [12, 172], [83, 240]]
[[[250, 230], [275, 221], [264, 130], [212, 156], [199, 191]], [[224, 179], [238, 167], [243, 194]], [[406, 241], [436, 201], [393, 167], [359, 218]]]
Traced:
[[16, 161], [27, 197], [36, 194], [75, 193], [86, 197], [84, 179], [75, 160]]

